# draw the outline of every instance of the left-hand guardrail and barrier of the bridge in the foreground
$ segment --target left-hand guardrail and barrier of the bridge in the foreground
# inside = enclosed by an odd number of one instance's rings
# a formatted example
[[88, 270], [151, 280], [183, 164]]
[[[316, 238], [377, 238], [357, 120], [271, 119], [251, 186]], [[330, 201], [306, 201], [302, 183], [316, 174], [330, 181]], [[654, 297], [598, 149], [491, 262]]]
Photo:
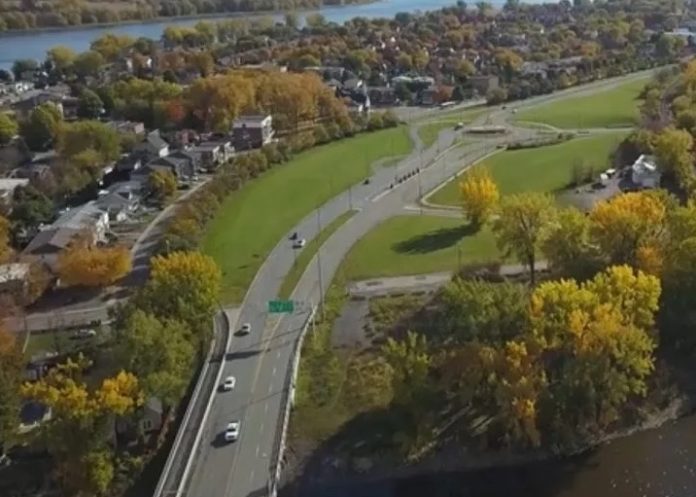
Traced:
[[[153, 497], [180, 497], [182, 494], [182, 490], [186, 482], [186, 478], [188, 476], [188, 471], [190, 470], [192, 454], [195, 452], [198, 442], [200, 441], [205, 416], [207, 412], [210, 410], [210, 399], [213, 398], [213, 395], [210, 395], [209, 397], [208, 404], [206, 405], [206, 410], [203, 413], [203, 418], [201, 422], [196, 425], [195, 437], [193, 438], [193, 440], [186, 440], [185, 438], [187, 436], [189, 436], [190, 438], [191, 435], [191, 418], [193, 417], [196, 409], [199, 407], [198, 400], [200, 397], [200, 393], [203, 390], [203, 387], [205, 386], [206, 378], [208, 377], [208, 371], [210, 369], [210, 364], [215, 356], [216, 346], [219, 346], [221, 343], [225, 344], [225, 348], [222, 350], [222, 355], [219, 363], [219, 370], [217, 373], [217, 376], [219, 377], [225, 361], [225, 351], [229, 346], [230, 336], [232, 335], [230, 333], [230, 326], [227, 315], [224, 312], [222, 312], [221, 314], [223, 327], [222, 331], [223, 333], [226, 333], [227, 336], [224, 340], [222, 340], [221, 336], [214, 337], [210, 344], [210, 349], [208, 350], [205, 362], [201, 367], [201, 371], [198, 375], [198, 380], [196, 381], [196, 386], [194, 387], [193, 393], [191, 394], [191, 398], [189, 399], [189, 404], [186, 408], [186, 412], [184, 413], [184, 418], [181, 421], [181, 425], [179, 425], [179, 431], [177, 432], [176, 438], [174, 439], [174, 444], [172, 445], [172, 448], [169, 451], [169, 456], [167, 457], [167, 461], [165, 462], [164, 468], [162, 469], [162, 474], [160, 475], [160, 479], [157, 483], [157, 487], [155, 488], [155, 492], [153, 493]], [[216, 316], [213, 319], [217, 318], [218, 316]], [[216, 387], [217, 383], [214, 383], [213, 388]], [[187, 445], [189, 450], [184, 450], [186, 449], [186, 447], [182, 448], [182, 445]], [[185, 455], [188, 455], [188, 458], [186, 459], [186, 464], [184, 465], [183, 457]]]

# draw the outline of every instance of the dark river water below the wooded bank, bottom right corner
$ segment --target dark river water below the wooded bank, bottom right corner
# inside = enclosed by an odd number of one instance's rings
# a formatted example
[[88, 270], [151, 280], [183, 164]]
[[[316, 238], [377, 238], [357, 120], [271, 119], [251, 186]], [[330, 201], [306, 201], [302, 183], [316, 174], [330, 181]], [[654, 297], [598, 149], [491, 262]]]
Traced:
[[694, 497], [696, 416], [562, 461], [302, 491], [302, 497], [425, 496]]

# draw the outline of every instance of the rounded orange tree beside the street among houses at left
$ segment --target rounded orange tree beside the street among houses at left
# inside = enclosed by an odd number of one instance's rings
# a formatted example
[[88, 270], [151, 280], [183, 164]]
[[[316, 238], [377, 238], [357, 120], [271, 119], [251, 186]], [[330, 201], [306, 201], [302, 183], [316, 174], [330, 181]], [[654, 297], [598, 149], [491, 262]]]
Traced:
[[57, 267], [63, 285], [103, 287], [130, 272], [131, 256], [126, 247], [92, 247], [77, 240], [59, 254]]

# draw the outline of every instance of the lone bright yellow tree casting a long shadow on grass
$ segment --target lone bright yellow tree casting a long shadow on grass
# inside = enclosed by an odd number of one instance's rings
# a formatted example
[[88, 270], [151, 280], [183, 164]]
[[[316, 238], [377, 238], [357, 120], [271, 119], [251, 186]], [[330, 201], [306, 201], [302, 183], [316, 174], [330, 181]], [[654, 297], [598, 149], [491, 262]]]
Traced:
[[464, 214], [475, 228], [480, 228], [498, 204], [498, 186], [484, 166], [475, 166], [464, 173], [459, 183]]

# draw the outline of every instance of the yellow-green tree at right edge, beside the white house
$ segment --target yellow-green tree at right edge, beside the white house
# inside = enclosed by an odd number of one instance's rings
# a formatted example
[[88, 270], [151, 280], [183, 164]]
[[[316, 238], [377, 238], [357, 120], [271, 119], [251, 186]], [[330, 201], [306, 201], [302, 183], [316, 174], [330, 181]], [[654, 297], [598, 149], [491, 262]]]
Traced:
[[682, 129], [669, 127], [655, 138], [655, 155], [659, 166], [673, 175], [679, 186], [687, 192], [696, 187], [693, 147], [693, 137]]

